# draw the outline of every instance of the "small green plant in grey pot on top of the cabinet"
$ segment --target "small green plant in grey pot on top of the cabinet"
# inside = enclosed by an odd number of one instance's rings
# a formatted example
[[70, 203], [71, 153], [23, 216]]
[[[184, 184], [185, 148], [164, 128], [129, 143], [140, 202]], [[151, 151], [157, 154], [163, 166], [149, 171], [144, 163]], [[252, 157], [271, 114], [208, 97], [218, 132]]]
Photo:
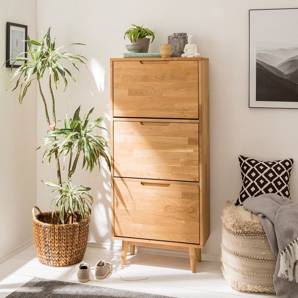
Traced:
[[[155, 35], [152, 30], [149, 28], [144, 28], [142, 26], [134, 25], [129, 29], [126, 30], [124, 33], [124, 39], [128, 38], [132, 45], [141, 45], [141, 50], [139, 50], [140, 53], [148, 53], [149, 44], [150, 44], [150, 36], [152, 38], [151, 43], [153, 42]], [[126, 46], [129, 50], [129, 45]]]

